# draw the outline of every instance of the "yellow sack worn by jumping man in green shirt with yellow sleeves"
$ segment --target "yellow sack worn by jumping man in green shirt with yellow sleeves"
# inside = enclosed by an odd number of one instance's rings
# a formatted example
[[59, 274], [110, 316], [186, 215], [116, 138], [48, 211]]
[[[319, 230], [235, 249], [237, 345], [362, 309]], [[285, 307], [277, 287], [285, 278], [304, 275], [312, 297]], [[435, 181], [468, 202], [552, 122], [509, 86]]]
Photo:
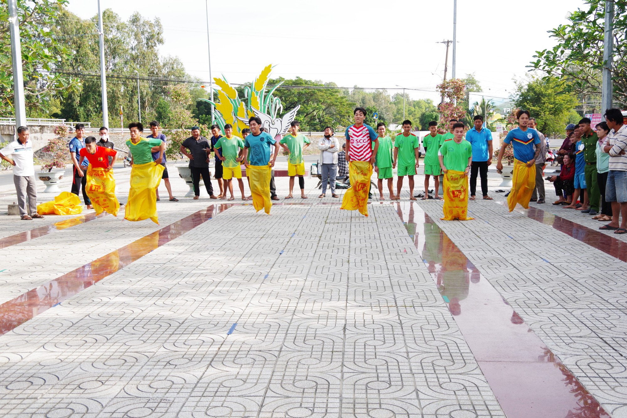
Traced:
[[124, 219], [132, 222], [150, 219], [159, 223], [157, 219], [157, 195], [155, 189], [161, 183], [161, 176], [165, 167], [152, 163], [133, 164], [130, 170], [129, 201], [127, 201]]

